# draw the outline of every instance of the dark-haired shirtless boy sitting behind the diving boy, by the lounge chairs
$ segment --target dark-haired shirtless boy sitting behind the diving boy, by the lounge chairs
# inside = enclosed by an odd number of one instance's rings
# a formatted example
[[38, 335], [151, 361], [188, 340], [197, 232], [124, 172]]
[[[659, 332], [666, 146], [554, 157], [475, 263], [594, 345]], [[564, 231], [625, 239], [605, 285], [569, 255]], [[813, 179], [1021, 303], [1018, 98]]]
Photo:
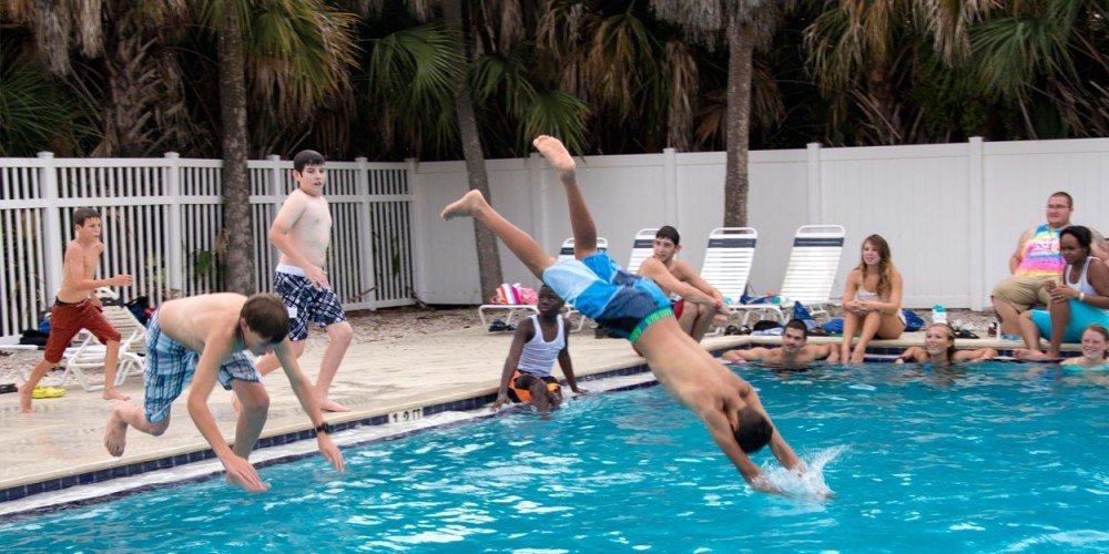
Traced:
[[659, 274], [661, 271], [670, 271], [670, 275], [673, 275], [682, 284], [682, 288], [680, 289], [670, 290], [663, 287], [662, 290], [683, 298], [674, 302], [674, 317], [678, 318], [678, 324], [681, 325], [682, 330], [690, 337], [693, 337], [693, 340], [700, 342], [704, 338], [704, 332], [709, 330], [709, 324], [712, 322], [713, 316], [716, 314], [726, 316], [728, 310], [713, 309], [712, 306], [703, 304], [686, 302], [684, 300], [685, 295], [689, 293], [690, 287], [692, 287], [711, 296], [715, 300], [720, 300], [721, 305], [723, 305], [724, 296], [710, 285], [709, 281], [702, 279], [693, 270], [693, 267], [676, 258], [678, 253], [682, 249], [681, 236], [678, 234], [678, 229], [669, 225], [660, 227], [654, 234], [654, 244], [652, 247], [654, 255], [643, 260], [643, 264], [639, 267], [639, 274], [654, 279], [655, 283], [661, 283]]

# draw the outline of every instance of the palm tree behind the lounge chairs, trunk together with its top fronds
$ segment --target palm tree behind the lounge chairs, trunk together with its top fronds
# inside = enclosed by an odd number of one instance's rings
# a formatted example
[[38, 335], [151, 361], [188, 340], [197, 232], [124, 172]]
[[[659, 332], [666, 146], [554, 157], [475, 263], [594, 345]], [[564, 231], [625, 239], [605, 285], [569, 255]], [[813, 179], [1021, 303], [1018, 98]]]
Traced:
[[770, 43], [792, 1], [651, 0], [655, 13], [706, 44], [728, 44], [728, 153], [724, 173], [724, 225], [747, 222], [747, 146], [751, 138], [751, 75], [754, 50]]

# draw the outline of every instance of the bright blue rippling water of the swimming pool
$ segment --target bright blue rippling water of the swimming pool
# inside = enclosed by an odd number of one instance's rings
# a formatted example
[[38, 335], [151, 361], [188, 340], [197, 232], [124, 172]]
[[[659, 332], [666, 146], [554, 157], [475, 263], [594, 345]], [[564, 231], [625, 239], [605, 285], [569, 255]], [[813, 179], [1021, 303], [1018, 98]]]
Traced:
[[[737, 369], [834, 492], [754, 493], [655, 387], [0, 525], [3, 548], [370, 552], [1106, 551], [1109, 387], [979, 365]], [[180, 422], [179, 422], [180, 423]], [[822, 468], [821, 468], [822, 466]]]

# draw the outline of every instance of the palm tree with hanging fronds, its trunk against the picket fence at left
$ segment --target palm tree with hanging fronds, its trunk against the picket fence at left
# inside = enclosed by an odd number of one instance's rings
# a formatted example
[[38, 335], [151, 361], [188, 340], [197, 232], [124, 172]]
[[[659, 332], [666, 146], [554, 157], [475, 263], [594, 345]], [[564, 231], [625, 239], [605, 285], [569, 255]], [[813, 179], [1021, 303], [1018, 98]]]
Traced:
[[[254, 283], [247, 91], [261, 115], [293, 123], [347, 86], [354, 17], [321, 0], [211, 0], [200, 19], [217, 34], [222, 120], [223, 235], [227, 290]], [[251, 69], [248, 72], [247, 69]], [[251, 75], [247, 86], [247, 75]]]

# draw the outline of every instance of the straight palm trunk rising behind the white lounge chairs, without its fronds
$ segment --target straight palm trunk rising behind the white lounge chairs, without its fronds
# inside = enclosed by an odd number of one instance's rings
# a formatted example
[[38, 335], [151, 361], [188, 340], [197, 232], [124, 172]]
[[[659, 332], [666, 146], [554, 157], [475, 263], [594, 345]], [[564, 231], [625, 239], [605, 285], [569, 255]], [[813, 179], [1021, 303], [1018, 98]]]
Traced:
[[728, 156], [724, 171], [724, 226], [747, 224], [747, 146], [751, 130], [752, 31], [728, 18]]

